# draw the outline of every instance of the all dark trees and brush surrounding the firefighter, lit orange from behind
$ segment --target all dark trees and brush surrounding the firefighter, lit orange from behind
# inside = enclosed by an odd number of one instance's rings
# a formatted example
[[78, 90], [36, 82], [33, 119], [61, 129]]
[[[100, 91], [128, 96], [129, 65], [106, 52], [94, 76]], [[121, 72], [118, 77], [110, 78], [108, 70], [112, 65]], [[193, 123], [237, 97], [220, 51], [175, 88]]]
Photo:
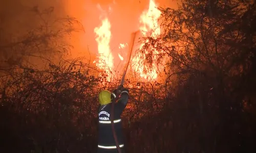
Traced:
[[[186, 0], [177, 10], [160, 8], [163, 32], [139, 52], [148, 50], [144, 64], [150, 65], [152, 46], [160, 50], [167, 77], [163, 84], [126, 81], [127, 152], [256, 151], [255, 5]], [[82, 58], [57, 64], [44, 58], [50, 50], [61, 52], [65, 44], [54, 38], [79, 24], [74, 18], [60, 23], [61, 33], [43, 28], [0, 44], [3, 55], [29, 53], [0, 67], [1, 152], [97, 149], [97, 94], [115, 89], [118, 80], [102, 85], [104, 77]], [[38, 54], [37, 47], [48, 52]], [[29, 56], [47, 65], [37, 68], [24, 61]]]

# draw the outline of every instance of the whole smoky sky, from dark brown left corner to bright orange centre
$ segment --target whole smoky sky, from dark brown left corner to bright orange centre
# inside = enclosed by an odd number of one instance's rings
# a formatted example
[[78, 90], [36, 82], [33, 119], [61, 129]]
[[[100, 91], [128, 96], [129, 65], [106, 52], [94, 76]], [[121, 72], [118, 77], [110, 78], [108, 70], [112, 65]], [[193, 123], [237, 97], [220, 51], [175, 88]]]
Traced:
[[[173, 1], [156, 1], [161, 7], [174, 7]], [[43, 10], [54, 8], [51, 18], [71, 16], [77, 18], [84, 27], [85, 32], [73, 33], [72, 36], [63, 38], [74, 46], [71, 57], [85, 56], [95, 58], [97, 43], [94, 28], [101, 23], [100, 16], [106, 15], [111, 22], [111, 48], [113, 52], [120, 43], [129, 42], [131, 33], [138, 30], [139, 16], [147, 9], [147, 0], [10, 0], [0, 2], [0, 46], [6, 42], [15, 42], [19, 37], [38, 27], [38, 16], [32, 10], [38, 6]], [[99, 7], [100, 6], [100, 9]], [[89, 54], [90, 53], [90, 54]], [[2, 56], [4, 61], [17, 53], [8, 53]], [[4, 55], [4, 54], [3, 54]]]

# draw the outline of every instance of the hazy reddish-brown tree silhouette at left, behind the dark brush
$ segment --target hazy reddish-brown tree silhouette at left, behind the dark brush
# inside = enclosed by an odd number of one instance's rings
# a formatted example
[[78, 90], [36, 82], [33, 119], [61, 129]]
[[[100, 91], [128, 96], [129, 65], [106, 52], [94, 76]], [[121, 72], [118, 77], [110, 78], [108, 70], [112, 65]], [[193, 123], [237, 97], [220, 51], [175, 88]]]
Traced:
[[[0, 37], [1, 69], [15, 65], [45, 65], [47, 60], [69, 54], [72, 46], [65, 40], [73, 32], [82, 31], [83, 27], [76, 18], [58, 17], [51, 14], [53, 7], [39, 10], [38, 7], [31, 9], [37, 17], [31, 24], [32, 29], [25, 34], [4, 33]], [[20, 29], [23, 31], [23, 29]], [[36, 64], [35, 64], [36, 63]]]

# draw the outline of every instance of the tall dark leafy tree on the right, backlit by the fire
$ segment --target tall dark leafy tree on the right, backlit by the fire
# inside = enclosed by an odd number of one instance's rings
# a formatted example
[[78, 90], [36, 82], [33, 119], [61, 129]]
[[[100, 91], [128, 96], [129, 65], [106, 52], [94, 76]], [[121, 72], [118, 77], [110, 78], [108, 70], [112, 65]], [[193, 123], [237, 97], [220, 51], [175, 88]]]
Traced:
[[[168, 57], [166, 84], [171, 81], [173, 87], [180, 89], [175, 92], [179, 97], [176, 100], [182, 101], [182, 104], [195, 111], [194, 114], [173, 114], [173, 117], [177, 115], [177, 118], [180, 115], [190, 117], [190, 121], [186, 121], [187, 118], [182, 119], [181, 122], [187, 124], [179, 126], [176, 134], [183, 133], [191, 136], [190, 141], [197, 141], [194, 140], [193, 134], [190, 134], [191, 131], [184, 133], [184, 129], [192, 128], [191, 130], [195, 131], [193, 126], [207, 129], [199, 135], [203, 151], [223, 149], [224, 142], [242, 134], [242, 127], [237, 127], [234, 118], [246, 116], [243, 113], [243, 101], [248, 95], [243, 90], [247, 90], [246, 86], [251, 87], [249, 84], [244, 85], [244, 77], [249, 79], [253, 76], [247, 74], [253, 68], [255, 57], [255, 31], [250, 29], [255, 24], [255, 16], [252, 17], [252, 14], [255, 15], [255, 11], [252, 11], [254, 7], [255, 3], [248, 2], [187, 0], [177, 10], [160, 8], [163, 32], [158, 39], [146, 38], [150, 41], [145, 46], [154, 46], [161, 50], [162, 54], [157, 57], [159, 61], [165, 56]], [[248, 28], [250, 30], [245, 30]], [[144, 61], [145, 63], [151, 63], [149, 61], [155, 58], [152, 57], [154, 50], [148, 50], [151, 52], [146, 53], [148, 60]], [[251, 91], [254, 90], [250, 89]], [[177, 105], [172, 107], [180, 108]], [[212, 114], [210, 116], [214, 117], [200, 117], [206, 114]], [[196, 123], [198, 120], [199, 123]], [[210, 126], [207, 126], [209, 124]], [[233, 131], [227, 132], [230, 128]], [[209, 134], [209, 131], [213, 134]], [[246, 136], [250, 139], [244, 133], [244, 137]], [[180, 142], [180, 145], [193, 149], [193, 146], [184, 144], [184, 141], [186, 140], [177, 140], [176, 143]], [[241, 148], [240, 144], [241, 142], [237, 141], [234, 145]], [[246, 145], [243, 148], [246, 148]]]

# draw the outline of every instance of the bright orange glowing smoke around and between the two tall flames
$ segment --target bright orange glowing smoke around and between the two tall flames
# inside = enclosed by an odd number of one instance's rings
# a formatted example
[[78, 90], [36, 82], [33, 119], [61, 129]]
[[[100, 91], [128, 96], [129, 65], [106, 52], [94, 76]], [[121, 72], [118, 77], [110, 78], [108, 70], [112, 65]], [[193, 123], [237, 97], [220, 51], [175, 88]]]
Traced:
[[[175, 1], [156, 1], [160, 7], [176, 7]], [[148, 9], [148, 0], [69, 0], [66, 11], [69, 15], [75, 16], [84, 25], [86, 33], [79, 33], [73, 36], [73, 44], [76, 51], [75, 56], [97, 54], [97, 43], [95, 41], [94, 28], [101, 24], [100, 16], [106, 16], [111, 23], [111, 49], [117, 50], [120, 43], [130, 41], [131, 33], [139, 28], [139, 16]], [[100, 7], [99, 7], [100, 6]], [[117, 55], [117, 54], [116, 54]]]

